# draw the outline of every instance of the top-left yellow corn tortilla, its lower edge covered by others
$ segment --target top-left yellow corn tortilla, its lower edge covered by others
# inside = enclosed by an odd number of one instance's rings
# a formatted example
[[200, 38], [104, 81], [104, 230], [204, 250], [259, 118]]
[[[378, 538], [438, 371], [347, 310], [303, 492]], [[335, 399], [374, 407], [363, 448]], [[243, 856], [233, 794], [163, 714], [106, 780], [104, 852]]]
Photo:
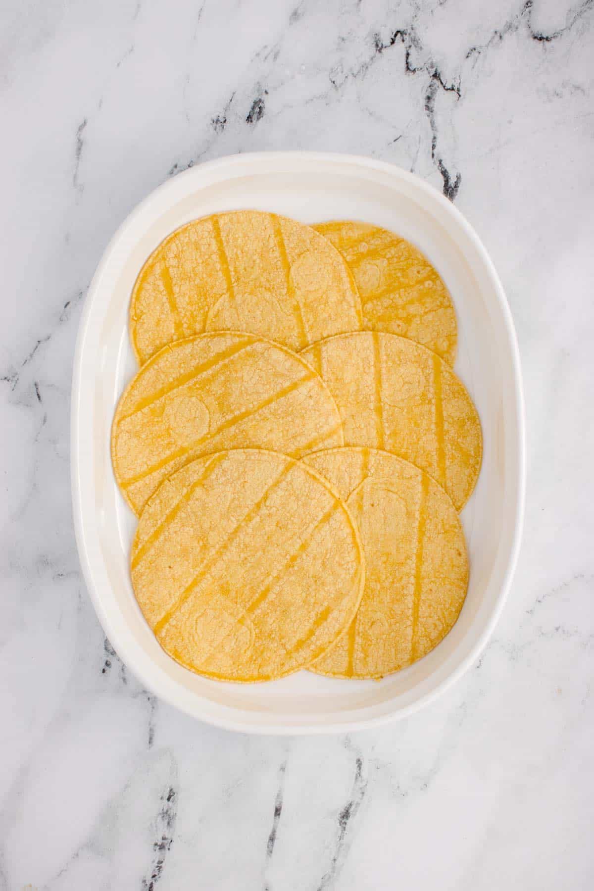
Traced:
[[142, 266], [130, 302], [141, 365], [202, 331], [249, 331], [299, 350], [361, 328], [361, 301], [338, 250], [310, 226], [259, 210], [177, 229]]

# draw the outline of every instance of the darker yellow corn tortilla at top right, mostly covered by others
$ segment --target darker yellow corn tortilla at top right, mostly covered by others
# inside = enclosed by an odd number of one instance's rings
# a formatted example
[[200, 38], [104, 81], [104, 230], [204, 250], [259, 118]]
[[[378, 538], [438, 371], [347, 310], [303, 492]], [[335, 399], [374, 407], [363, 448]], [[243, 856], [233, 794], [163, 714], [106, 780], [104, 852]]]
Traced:
[[363, 328], [411, 338], [454, 364], [458, 329], [452, 298], [419, 249], [387, 229], [354, 220], [313, 228], [350, 266], [361, 297]]

